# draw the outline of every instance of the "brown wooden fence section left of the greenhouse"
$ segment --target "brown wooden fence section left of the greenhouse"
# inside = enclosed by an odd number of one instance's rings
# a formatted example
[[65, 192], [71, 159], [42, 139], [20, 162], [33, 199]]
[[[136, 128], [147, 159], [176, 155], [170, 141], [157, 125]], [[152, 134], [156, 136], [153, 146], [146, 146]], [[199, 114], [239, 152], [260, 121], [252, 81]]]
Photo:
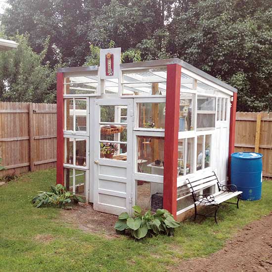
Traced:
[[56, 104], [0, 102], [0, 158], [0, 177], [55, 167]]

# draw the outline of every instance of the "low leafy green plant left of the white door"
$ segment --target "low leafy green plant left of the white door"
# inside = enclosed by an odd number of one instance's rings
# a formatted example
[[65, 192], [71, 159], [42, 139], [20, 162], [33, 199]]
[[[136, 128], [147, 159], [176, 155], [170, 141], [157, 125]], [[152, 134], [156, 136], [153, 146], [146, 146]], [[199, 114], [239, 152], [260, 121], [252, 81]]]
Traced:
[[56, 206], [59, 208], [70, 208], [72, 204], [84, 202], [79, 196], [66, 190], [65, 186], [57, 184], [51, 186], [51, 191], [39, 191], [39, 194], [32, 199], [36, 208], [42, 206]]

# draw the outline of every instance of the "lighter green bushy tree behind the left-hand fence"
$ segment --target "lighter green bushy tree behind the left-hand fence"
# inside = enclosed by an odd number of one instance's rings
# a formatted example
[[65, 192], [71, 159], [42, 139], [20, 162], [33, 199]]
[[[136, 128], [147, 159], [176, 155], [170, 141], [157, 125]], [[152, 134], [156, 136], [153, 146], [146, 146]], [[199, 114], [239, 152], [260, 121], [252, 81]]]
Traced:
[[49, 44], [40, 54], [28, 44], [27, 37], [13, 38], [17, 49], [0, 52], [0, 100], [13, 102], [55, 102], [56, 73], [49, 63], [42, 64]]

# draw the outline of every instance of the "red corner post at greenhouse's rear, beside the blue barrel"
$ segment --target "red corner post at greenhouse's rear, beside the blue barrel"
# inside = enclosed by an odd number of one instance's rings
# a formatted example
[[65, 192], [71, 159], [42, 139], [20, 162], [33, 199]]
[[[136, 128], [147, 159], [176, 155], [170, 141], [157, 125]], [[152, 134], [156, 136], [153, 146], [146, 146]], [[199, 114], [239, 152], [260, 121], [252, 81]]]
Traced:
[[230, 108], [230, 120], [229, 120], [229, 143], [228, 143], [228, 167], [227, 167], [227, 183], [230, 184], [230, 161], [231, 154], [234, 152], [235, 143], [235, 122], [236, 122], [236, 106], [237, 106], [237, 92], [233, 92], [233, 100]]

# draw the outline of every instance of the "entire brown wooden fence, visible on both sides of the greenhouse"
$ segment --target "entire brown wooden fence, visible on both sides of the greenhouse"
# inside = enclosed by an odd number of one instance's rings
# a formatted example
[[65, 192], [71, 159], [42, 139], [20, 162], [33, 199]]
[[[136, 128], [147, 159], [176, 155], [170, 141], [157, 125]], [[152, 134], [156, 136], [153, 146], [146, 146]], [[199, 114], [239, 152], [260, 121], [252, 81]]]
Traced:
[[[235, 151], [262, 153], [272, 177], [272, 112], [236, 113]], [[56, 104], [0, 102], [0, 158], [0, 177], [55, 167]]]

